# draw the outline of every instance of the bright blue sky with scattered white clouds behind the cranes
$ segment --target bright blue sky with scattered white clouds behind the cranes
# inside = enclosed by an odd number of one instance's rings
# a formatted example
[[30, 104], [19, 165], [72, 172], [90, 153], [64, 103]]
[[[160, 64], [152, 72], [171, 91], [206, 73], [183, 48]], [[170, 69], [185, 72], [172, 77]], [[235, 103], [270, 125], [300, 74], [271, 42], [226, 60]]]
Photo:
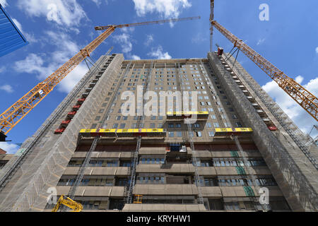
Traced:
[[[116, 30], [93, 52], [95, 60], [110, 47], [114, 47], [113, 52], [124, 53], [125, 59], [205, 58], [210, 47], [208, 0], [0, 0], [0, 3], [30, 42], [0, 58], [0, 112], [97, 37], [96, 25], [201, 16], [201, 20]], [[264, 3], [269, 5], [269, 21], [259, 20], [259, 6]], [[216, 0], [215, 19], [317, 96], [317, 8], [317, 0]], [[214, 32], [213, 43], [224, 47], [226, 52], [232, 49], [232, 44], [218, 31]], [[238, 61], [300, 129], [308, 132], [317, 124], [244, 54], [240, 53]], [[64, 78], [8, 133], [8, 139], [13, 141], [0, 143], [0, 148], [15, 153], [18, 148], [15, 143], [23, 143], [33, 135], [86, 71], [86, 65], [80, 64]], [[317, 135], [317, 131], [311, 135]]]

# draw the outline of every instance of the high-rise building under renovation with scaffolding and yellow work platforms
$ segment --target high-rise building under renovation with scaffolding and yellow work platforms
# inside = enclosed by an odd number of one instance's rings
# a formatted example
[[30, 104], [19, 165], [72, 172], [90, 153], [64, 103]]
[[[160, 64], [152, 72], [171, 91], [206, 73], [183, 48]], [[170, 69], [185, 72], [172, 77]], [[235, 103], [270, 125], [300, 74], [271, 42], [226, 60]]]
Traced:
[[[140, 88], [158, 95], [152, 115]], [[50, 211], [61, 195], [84, 211], [317, 211], [317, 157], [227, 54], [105, 55], [1, 169], [0, 211]]]

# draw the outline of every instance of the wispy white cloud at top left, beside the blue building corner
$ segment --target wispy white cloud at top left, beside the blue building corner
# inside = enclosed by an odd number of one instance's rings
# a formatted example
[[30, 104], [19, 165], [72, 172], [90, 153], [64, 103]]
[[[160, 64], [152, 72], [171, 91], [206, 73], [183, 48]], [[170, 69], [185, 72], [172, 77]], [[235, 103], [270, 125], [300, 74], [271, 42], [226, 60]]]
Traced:
[[18, 0], [18, 8], [30, 17], [45, 17], [59, 25], [78, 26], [85, 11], [76, 0]]

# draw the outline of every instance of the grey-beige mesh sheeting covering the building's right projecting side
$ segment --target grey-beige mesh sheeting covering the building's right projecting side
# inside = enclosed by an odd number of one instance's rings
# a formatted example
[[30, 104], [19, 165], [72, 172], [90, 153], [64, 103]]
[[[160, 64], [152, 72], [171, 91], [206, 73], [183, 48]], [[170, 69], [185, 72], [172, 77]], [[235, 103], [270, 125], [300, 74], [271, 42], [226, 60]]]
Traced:
[[[208, 59], [232, 105], [240, 114], [240, 118], [254, 130], [252, 138], [276, 178], [290, 207], [293, 210], [317, 210], [317, 176], [314, 175], [316, 176], [314, 178], [310, 174], [313, 167], [308, 163], [307, 157], [299, 149], [295, 150], [292, 145], [288, 145], [288, 142], [278, 141], [276, 136], [269, 131], [242, 90], [220, 64], [220, 59], [216, 54], [209, 53]], [[298, 152], [297, 157], [291, 156], [293, 152]], [[316, 186], [313, 185], [314, 183]]]

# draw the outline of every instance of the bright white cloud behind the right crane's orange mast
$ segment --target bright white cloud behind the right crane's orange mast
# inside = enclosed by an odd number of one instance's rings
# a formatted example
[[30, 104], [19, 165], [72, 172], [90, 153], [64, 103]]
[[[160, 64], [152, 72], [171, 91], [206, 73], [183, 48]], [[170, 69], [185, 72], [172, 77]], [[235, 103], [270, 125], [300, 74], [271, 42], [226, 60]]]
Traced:
[[[295, 78], [295, 81], [302, 83], [302, 76]], [[318, 78], [314, 78], [309, 83], [302, 85], [313, 95], [318, 95]], [[271, 81], [263, 85], [262, 88], [276, 101], [276, 103], [288, 114], [295, 124], [305, 133], [309, 133], [312, 126], [316, 124], [316, 120], [308, 114], [305, 109], [295, 102], [285, 91], [283, 91], [275, 81]], [[310, 134], [311, 136], [314, 135]]]

